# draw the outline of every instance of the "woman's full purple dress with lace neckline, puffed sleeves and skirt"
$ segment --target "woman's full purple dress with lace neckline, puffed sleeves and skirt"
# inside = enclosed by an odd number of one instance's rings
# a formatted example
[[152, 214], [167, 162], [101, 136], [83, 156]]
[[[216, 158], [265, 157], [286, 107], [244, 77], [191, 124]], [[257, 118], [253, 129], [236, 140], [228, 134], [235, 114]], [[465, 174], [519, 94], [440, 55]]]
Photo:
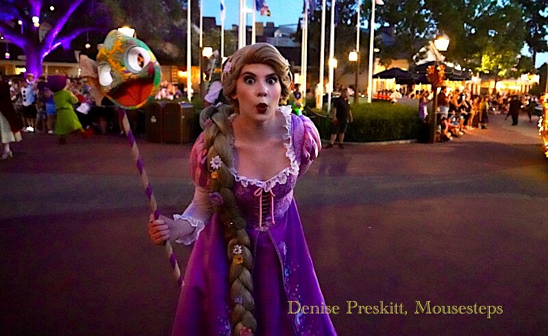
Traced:
[[[280, 107], [279, 112], [286, 118], [284, 146], [290, 166], [268, 181], [247, 179], [232, 168], [236, 179], [233, 191], [247, 220], [254, 257], [256, 335], [336, 335], [327, 314], [289, 313], [290, 301], [319, 307], [325, 303], [293, 198], [297, 177], [316, 158], [321, 142], [309, 118], [291, 114], [290, 106]], [[204, 161], [202, 134], [190, 157], [197, 188], [206, 188]], [[173, 335], [231, 335], [229, 261], [223, 224], [217, 214], [205, 220], [200, 214], [193, 216], [199, 212], [187, 209], [178, 216], [197, 227], [193, 237], [183, 242], [197, 241], [186, 268]], [[294, 303], [293, 311], [295, 307]]]

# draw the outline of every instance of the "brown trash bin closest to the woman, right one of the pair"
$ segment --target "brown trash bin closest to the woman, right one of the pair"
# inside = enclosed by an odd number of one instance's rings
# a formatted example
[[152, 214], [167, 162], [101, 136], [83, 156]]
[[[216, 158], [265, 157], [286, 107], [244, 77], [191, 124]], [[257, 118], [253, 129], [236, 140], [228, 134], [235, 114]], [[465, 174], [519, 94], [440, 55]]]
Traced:
[[194, 106], [188, 103], [166, 103], [164, 106], [163, 140], [167, 144], [186, 144], [194, 139]]

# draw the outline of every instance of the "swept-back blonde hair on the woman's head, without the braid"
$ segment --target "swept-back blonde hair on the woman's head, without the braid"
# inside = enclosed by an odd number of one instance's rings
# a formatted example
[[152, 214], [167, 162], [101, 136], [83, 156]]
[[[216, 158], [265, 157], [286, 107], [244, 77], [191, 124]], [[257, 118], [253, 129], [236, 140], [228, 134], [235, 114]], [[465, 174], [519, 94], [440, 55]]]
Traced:
[[279, 84], [282, 86], [279, 103], [286, 103], [291, 93], [291, 81], [293, 79], [289, 70], [289, 62], [272, 44], [256, 43], [238, 49], [234, 55], [228, 57], [225, 68], [223, 68], [221, 75], [223, 94], [236, 112], [239, 108], [238, 100], [232, 98], [232, 96], [236, 94], [236, 82], [240, 77], [240, 72], [247, 64], [266, 64], [273, 68], [279, 79]]

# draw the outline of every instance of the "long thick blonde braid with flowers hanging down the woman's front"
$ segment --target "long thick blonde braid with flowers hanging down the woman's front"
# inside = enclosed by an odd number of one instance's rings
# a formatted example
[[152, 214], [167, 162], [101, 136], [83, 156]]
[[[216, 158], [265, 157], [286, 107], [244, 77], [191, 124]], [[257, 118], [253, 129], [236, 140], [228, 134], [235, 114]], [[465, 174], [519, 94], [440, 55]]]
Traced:
[[[233, 335], [240, 335], [243, 328], [251, 329], [253, 334], [257, 330], [257, 321], [253, 317], [255, 302], [253, 300], [253, 255], [251, 242], [245, 231], [246, 221], [236, 206], [236, 198], [232, 192], [234, 176], [229, 170], [232, 166], [232, 147], [230, 141], [232, 133], [228, 117], [234, 112], [229, 105], [220, 107], [209, 106], [200, 114], [204, 129], [204, 144], [208, 153], [208, 167], [210, 168], [210, 193], [219, 193], [223, 200], [214, 202], [214, 209], [219, 214], [221, 222], [225, 224], [225, 239], [227, 240], [227, 255], [230, 261], [229, 281], [230, 302], [232, 302]], [[207, 120], [211, 120], [208, 122]], [[212, 168], [210, 162], [219, 155], [223, 164], [218, 169]], [[233, 253], [234, 246], [236, 253]], [[238, 253], [241, 248], [241, 253]]]

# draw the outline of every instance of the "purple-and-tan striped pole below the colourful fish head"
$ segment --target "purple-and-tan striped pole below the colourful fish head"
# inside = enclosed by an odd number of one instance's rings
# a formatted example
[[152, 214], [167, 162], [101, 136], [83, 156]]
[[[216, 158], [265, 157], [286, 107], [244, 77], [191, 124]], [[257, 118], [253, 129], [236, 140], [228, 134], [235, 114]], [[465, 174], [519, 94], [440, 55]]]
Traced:
[[[137, 166], [137, 169], [139, 170], [139, 177], [140, 177], [142, 188], [145, 190], [145, 194], [147, 194], [147, 198], [149, 198], [149, 205], [150, 205], [151, 211], [154, 214], [154, 219], [158, 219], [160, 218], [160, 210], [158, 210], [158, 205], [156, 204], [156, 198], [154, 197], [154, 194], [152, 193], [152, 187], [149, 182], [149, 177], [147, 176], [147, 172], [145, 171], [145, 164], [142, 163], [142, 159], [139, 154], [139, 148], [137, 148], [135, 137], [133, 135], [131, 127], [129, 127], [129, 120], [127, 120], [127, 114], [125, 114], [125, 109], [119, 107], [118, 114], [122, 118], [122, 126], [124, 128], [125, 135], [127, 135], [127, 141], [129, 142], [129, 145], [132, 146], [132, 156]], [[173, 248], [171, 247], [171, 243], [168, 240], [166, 240], [164, 242], [164, 246], [166, 248], [166, 252], [169, 257], [169, 262], [171, 263], [171, 267], [173, 268], [173, 275], [175, 276], [175, 279], [177, 279], [177, 284], [179, 284], [179, 287], [183, 287], [184, 283], [183, 283], [183, 278], [181, 276], [181, 270], [179, 270], [179, 263], [177, 263], [177, 257], [175, 257], [175, 254], [173, 254]]]

